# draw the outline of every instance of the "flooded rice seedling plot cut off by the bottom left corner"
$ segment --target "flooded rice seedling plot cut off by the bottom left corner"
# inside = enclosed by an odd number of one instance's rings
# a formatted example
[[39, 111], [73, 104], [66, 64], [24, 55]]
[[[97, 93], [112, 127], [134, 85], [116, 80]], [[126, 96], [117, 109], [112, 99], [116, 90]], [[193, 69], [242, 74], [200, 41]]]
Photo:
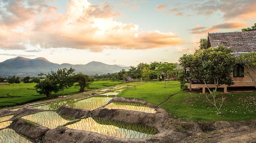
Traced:
[[17, 134], [13, 129], [0, 130], [1, 143], [32, 143], [25, 137]]

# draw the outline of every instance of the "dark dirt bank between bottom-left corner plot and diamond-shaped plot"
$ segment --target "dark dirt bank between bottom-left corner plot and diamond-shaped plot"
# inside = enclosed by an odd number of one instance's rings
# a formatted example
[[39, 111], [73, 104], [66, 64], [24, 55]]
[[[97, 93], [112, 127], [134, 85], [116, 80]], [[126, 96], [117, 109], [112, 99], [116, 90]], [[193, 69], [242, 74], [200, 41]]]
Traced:
[[17, 133], [26, 136], [29, 140], [40, 142], [46, 132], [49, 130], [46, 127], [39, 126], [33, 122], [16, 118], [13, 120], [9, 128], [14, 129]]

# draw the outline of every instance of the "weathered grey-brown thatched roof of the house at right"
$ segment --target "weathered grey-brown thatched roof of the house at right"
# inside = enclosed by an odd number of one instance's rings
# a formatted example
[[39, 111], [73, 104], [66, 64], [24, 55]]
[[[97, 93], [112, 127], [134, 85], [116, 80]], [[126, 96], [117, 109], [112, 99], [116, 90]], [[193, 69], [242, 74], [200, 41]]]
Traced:
[[256, 31], [208, 33], [208, 47], [230, 47], [234, 53], [256, 52]]

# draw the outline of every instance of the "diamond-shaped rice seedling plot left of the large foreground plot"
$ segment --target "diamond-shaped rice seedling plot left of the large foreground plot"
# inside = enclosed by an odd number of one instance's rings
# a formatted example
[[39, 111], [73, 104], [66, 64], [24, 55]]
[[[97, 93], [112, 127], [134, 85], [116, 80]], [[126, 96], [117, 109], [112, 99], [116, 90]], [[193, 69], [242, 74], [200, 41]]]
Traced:
[[35, 122], [38, 125], [47, 127], [49, 129], [54, 129], [69, 122], [69, 120], [64, 119], [62, 116], [53, 111], [43, 111], [23, 116], [22, 119]]

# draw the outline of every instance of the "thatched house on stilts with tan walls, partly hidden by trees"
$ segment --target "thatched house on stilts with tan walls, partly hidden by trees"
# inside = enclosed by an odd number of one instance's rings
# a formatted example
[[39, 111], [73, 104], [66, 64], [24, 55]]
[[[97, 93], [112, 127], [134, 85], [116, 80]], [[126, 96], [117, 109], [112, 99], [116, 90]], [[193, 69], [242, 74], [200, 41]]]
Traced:
[[[241, 53], [256, 52], [256, 31], [243, 31], [243, 32], [225, 32], [225, 33], [208, 33], [207, 48], [217, 47], [219, 45], [230, 47], [234, 51], [235, 57]], [[237, 64], [237, 68], [231, 73], [235, 82], [233, 87], [254, 86], [251, 78], [244, 76], [242, 73], [247, 69]], [[209, 84], [210, 88], [215, 88], [214, 84]], [[190, 81], [189, 89], [202, 88], [205, 93], [206, 85], [202, 82]], [[227, 93], [227, 85], [221, 85], [224, 88], [224, 93]]]

